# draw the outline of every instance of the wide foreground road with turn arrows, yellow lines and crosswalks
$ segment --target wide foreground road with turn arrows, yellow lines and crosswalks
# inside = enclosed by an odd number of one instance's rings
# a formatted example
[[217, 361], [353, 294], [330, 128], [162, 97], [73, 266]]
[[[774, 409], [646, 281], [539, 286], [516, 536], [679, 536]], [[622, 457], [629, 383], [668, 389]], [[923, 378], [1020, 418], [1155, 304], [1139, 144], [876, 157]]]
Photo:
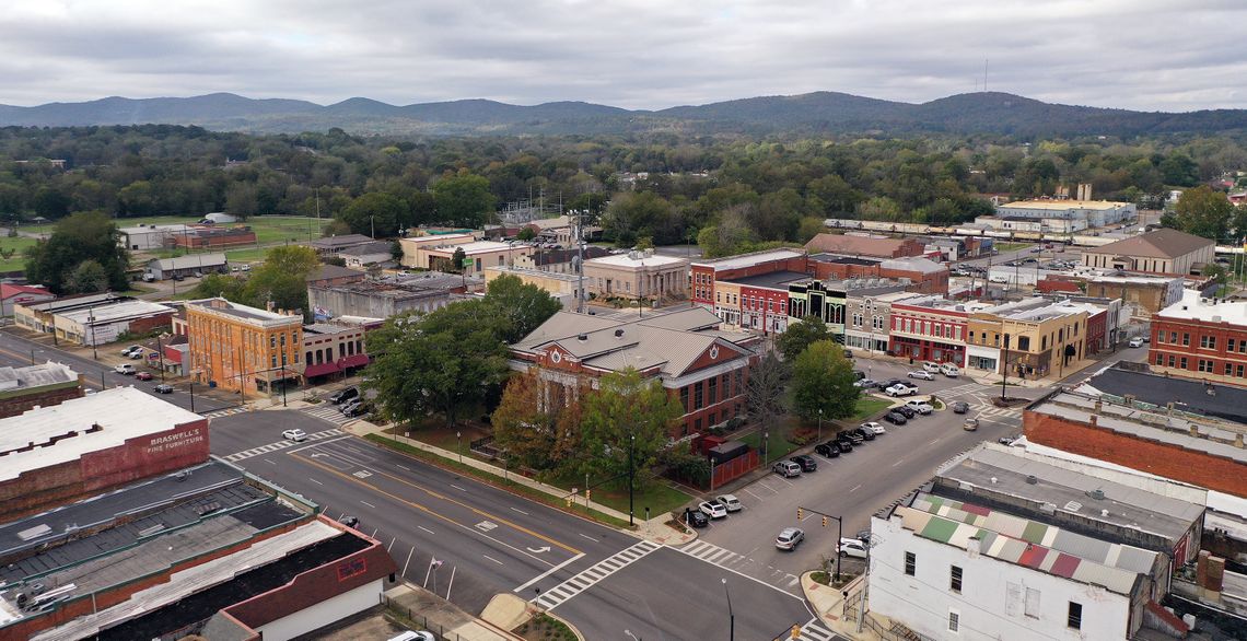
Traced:
[[[726, 576], [742, 604], [739, 639], [769, 639], [812, 619], [791, 592], [347, 436], [312, 412], [214, 419], [212, 453], [319, 503], [333, 518], [359, 518], [359, 529], [385, 542], [408, 580], [468, 611], [480, 612], [498, 592], [516, 592], [554, 609], [587, 639], [627, 639], [624, 630], [640, 639], [726, 637], [726, 610], [690, 607], [698, 602], [690, 595], [718, 599]], [[309, 439], [282, 439], [292, 428]], [[832, 636], [812, 630], [804, 639]]]

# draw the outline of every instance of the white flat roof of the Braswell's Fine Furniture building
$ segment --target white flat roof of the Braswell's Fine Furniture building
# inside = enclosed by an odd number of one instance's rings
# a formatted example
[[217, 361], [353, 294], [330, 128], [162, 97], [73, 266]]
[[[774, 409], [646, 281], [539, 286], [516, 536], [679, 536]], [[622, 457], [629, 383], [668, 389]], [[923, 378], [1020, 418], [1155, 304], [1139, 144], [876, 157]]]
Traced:
[[132, 387], [31, 409], [0, 419], [0, 481], [196, 420], [203, 417]]

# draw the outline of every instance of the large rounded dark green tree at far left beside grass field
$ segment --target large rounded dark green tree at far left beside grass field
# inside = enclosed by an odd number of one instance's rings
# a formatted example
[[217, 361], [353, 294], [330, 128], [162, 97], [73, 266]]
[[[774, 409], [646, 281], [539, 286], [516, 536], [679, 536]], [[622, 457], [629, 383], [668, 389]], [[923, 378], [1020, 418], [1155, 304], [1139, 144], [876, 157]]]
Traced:
[[62, 218], [46, 241], [26, 251], [26, 278], [47, 286], [52, 293], [69, 293], [70, 277], [80, 264], [94, 261], [107, 276], [110, 289], [126, 289], [130, 254], [118, 238], [117, 227], [102, 213], [82, 212]]

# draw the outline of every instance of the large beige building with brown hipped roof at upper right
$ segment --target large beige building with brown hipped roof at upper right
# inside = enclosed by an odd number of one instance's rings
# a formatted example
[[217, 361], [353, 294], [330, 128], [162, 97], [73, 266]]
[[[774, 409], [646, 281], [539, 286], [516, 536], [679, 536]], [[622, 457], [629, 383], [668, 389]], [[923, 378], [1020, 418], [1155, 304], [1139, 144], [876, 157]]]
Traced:
[[1131, 238], [1082, 249], [1082, 264], [1187, 276], [1216, 259], [1216, 243], [1177, 229], [1156, 229]]

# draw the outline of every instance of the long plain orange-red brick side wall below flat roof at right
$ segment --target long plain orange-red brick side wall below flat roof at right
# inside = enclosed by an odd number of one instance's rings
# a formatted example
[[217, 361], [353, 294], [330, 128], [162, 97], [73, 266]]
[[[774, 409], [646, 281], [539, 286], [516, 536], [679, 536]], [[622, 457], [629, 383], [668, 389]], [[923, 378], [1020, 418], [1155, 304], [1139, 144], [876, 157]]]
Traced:
[[1036, 412], [1024, 413], [1023, 431], [1040, 445], [1247, 498], [1247, 465], [1231, 459]]

